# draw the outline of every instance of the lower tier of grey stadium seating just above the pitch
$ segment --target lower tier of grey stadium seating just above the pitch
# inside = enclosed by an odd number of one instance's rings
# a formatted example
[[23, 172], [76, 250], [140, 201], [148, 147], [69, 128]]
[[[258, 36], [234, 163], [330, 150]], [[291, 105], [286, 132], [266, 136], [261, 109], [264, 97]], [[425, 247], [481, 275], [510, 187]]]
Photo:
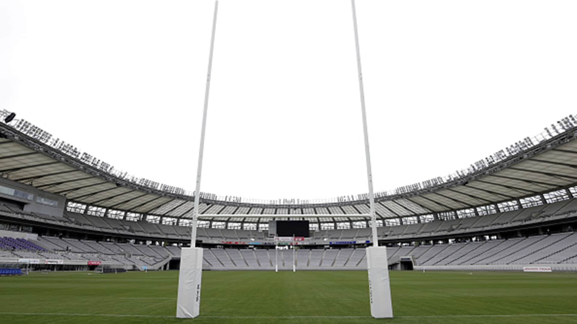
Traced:
[[[21, 242], [16, 248], [0, 250], [4, 263], [17, 259], [39, 261], [61, 259], [70, 265], [100, 261], [125, 269], [160, 269], [180, 257], [180, 248], [51, 236], [35, 240], [4, 238]], [[16, 245], [16, 244], [14, 244]], [[23, 247], [25, 246], [25, 247]], [[527, 238], [494, 239], [479, 242], [388, 247], [389, 265], [400, 257], [411, 258], [417, 269], [519, 269], [519, 266], [552, 265], [554, 269], [577, 270], [577, 234], [573, 232], [535, 235]], [[278, 253], [278, 255], [275, 255]], [[364, 248], [310, 248], [265, 250], [258, 248], [205, 248], [205, 270], [365, 270]], [[40, 262], [44, 263], [44, 262]], [[519, 266], [518, 266], [519, 265]]]

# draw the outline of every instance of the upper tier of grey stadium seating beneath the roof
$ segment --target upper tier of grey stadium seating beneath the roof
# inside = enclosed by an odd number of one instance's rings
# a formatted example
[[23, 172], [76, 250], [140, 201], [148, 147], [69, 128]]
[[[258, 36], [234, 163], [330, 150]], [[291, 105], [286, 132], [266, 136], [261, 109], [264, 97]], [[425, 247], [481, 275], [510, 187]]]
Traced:
[[[571, 190], [576, 190], [571, 188]], [[552, 204], [530, 208], [516, 208], [508, 212], [470, 216], [448, 220], [430, 218], [427, 223], [410, 225], [383, 225], [377, 233], [382, 242], [441, 238], [443, 236], [475, 235], [487, 232], [510, 231], [518, 228], [539, 227], [547, 224], [571, 223], [577, 219], [577, 199], [569, 198]], [[190, 228], [179, 225], [162, 225], [147, 221], [118, 220], [91, 216], [75, 212], [64, 212], [63, 217], [53, 218], [42, 213], [27, 213], [18, 206], [0, 204], [0, 216], [5, 220], [22, 221], [28, 224], [50, 224], [54, 227], [89, 232], [100, 235], [117, 235], [126, 238], [166, 240], [185, 243], [190, 240]], [[358, 222], [358, 221], [357, 221]], [[220, 223], [214, 221], [214, 223]], [[381, 223], [382, 224], [382, 223]], [[368, 222], [364, 222], [365, 227]], [[339, 242], [366, 243], [370, 240], [370, 228], [329, 229], [312, 231], [306, 243], [339, 244]], [[271, 244], [262, 231], [244, 229], [199, 228], [197, 240], [220, 244]], [[228, 242], [228, 243], [227, 243]], [[232, 242], [232, 243], [231, 243]], [[2, 241], [0, 240], [0, 244]]]

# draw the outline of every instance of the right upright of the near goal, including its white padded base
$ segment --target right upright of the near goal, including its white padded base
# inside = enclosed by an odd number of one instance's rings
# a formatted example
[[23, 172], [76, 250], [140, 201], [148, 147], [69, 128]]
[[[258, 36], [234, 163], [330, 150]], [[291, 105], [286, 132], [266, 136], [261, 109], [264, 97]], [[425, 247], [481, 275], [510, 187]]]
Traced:
[[370, 222], [373, 232], [373, 246], [366, 248], [369, 274], [370, 315], [374, 318], [391, 318], [393, 317], [393, 308], [391, 303], [391, 287], [389, 285], [387, 247], [379, 247], [377, 216], [374, 213], [373, 175], [370, 167], [369, 132], [366, 123], [365, 89], [362, 81], [361, 50], [359, 49], [355, 0], [351, 0], [351, 6], [353, 9], [355, 49], [357, 50], [357, 70], [359, 78], [359, 94], [361, 96], [362, 126], [365, 137], [366, 177], [369, 184]]

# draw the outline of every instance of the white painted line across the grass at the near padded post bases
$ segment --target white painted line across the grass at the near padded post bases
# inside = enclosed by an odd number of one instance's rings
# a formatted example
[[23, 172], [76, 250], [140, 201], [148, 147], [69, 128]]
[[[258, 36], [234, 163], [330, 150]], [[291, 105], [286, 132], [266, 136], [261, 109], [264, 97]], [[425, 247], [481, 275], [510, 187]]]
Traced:
[[[145, 317], [145, 318], [174, 318], [168, 315], [138, 315], [138, 314], [74, 314], [58, 312], [0, 312], [0, 315], [42, 315], [42, 316], [100, 316], [100, 317]], [[511, 314], [511, 315], [418, 315], [418, 316], [396, 316], [396, 318], [470, 318], [470, 317], [574, 317], [577, 314]], [[270, 318], [270, 319], [291, 319], [291, 318], [370, 318], [370, 316], [331, 316], [331, 315], [310, 315], [310, 316], [226, 316], [226, 315], [200, 315], [200, 318]]]

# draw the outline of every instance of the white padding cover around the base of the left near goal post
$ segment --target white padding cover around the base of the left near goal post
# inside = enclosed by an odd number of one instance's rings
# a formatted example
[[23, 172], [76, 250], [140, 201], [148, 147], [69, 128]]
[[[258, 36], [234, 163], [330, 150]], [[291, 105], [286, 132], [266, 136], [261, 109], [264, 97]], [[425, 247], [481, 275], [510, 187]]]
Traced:
[[200, 282], [203, 277], [203, 249], [184, 247], [178, 274], [177, 318], [200, 314]]

